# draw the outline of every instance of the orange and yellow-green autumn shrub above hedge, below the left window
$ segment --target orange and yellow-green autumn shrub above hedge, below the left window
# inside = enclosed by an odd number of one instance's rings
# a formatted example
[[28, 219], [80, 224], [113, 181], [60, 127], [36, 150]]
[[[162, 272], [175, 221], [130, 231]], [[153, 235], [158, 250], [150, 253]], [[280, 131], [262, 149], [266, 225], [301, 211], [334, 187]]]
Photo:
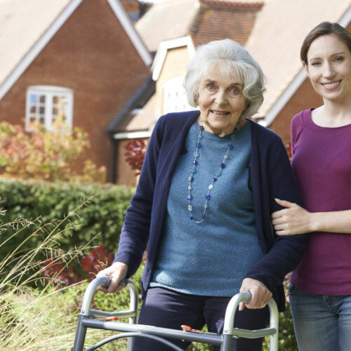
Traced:
[[83, 174], [73, 170], [74, 161], [89, 145], [88, 134], [60, 119], [47, 131], [43, 124], [28, 126], [0, 122], [0, 168], [4, 176], [48, 181], [105, 181], [105, 167], [85, 161]]

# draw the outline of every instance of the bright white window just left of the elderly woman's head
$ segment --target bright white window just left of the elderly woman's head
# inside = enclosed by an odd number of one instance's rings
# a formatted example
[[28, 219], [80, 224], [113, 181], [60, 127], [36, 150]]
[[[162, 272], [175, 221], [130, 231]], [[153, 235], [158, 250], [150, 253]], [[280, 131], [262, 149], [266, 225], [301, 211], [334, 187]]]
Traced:
[[176, 77], [166, 81], [164, 84], [164, 111], [168, 112], [183, 112], [196, 110], [187, 102], [187, 94], [183, 86], [184, 77]]

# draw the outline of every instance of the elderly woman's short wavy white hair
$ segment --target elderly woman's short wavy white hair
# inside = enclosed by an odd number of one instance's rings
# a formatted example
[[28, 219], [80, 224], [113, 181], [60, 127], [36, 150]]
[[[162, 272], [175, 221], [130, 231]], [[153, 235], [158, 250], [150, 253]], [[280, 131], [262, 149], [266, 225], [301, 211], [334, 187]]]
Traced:
[[253, 116], [263, 102], [265, 76], [249, 51], [230, 39], [210, 41], [197, 48], [194, 58], [187, 65], [187, 74], [183, 81], [187, 101], [191, 106], [197, 107], [200, 81], [211, 67], [218, 63], [223, 74], [227, 77], [235, 75], [244, 86], [243, 95], [246, 98], [247, 109], [241, 117]]

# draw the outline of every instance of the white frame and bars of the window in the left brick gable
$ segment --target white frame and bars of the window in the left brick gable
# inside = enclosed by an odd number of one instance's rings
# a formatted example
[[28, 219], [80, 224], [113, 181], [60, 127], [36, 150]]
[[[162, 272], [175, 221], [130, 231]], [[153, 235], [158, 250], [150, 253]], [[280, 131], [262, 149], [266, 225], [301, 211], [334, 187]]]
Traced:
[[[31, 122], [31, 95], [44, 95], [45, 102], [44, 107], [44, 124], [48, 131], [52, 130], [53, 124], [53, 98], [55, 96], [65, 97], [65, 123], [68, 126], [72, 126], [73, 120], [73, 90], [69, 88], [63, 88], [61, 86], [29, 86], [27, 88], [26, 95], [26, 107], [25, 107], [25, 124], [28, 126]], [[39, 119], [40, 117], [37, 117]]]

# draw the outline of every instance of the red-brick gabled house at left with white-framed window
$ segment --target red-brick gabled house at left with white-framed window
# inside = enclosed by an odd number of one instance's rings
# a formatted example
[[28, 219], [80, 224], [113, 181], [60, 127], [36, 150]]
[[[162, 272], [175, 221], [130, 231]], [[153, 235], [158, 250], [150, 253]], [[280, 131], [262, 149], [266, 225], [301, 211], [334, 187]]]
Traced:
[[[124, 0], [128, 11], [135, 1]], [[108, 127], [150, 79], [152, 63], [121, 1], [1, 1], [0, 50], [0, 120], [50, 128], [63, 109], [90, 138], [77, 169], [88, 157], [112, 180]]]

